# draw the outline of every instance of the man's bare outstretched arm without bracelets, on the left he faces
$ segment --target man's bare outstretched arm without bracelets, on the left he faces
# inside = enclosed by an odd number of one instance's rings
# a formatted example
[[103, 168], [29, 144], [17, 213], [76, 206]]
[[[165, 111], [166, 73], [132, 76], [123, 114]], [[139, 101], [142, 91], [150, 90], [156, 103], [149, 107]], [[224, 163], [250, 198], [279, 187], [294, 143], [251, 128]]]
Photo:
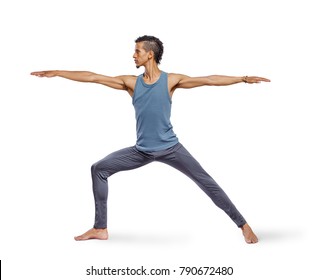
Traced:
[[87, 83], [97, 83], [102, 84], [114, 89], [127, 90], [129, 93], [133, 91], [131, 87], [134, 80], [134, 76], [118, 76], [109, 77], [100, 74], [96, 74], [89, 71], [64, 71], [64, 70], [49, 70], [49, 71], [38, 71], [32, 72], [31, 75], [37, 77], [62, 77], [65, 79], [77, 81], [77, 82], [87, 82]]

